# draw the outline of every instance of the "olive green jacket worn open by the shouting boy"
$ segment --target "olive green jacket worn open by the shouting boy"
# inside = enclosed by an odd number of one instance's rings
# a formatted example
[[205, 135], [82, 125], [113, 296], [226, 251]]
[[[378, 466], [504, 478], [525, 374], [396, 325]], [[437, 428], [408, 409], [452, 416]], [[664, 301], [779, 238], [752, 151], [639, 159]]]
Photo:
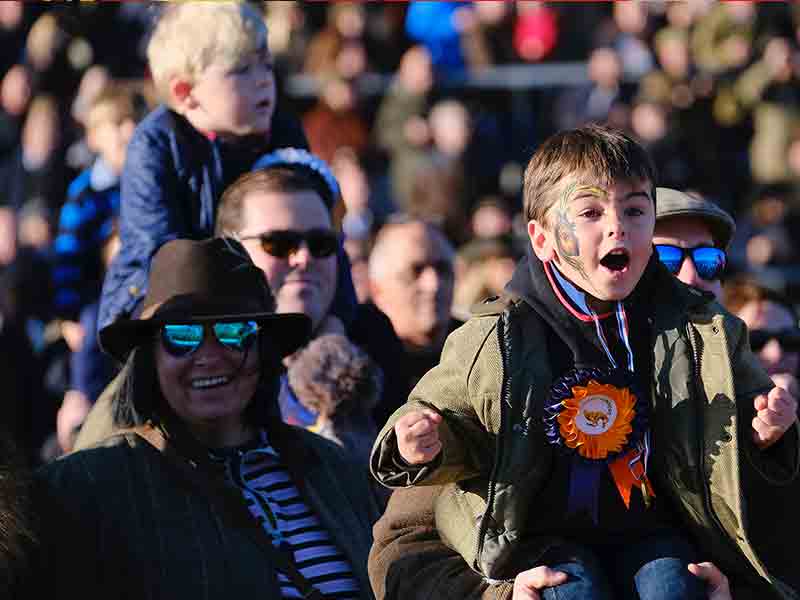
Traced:
[[[797, 520], [781, 524], [779, 535], [762, 536], [773, 547], [757, 549], [748, 512], [755, 497], [759, 507], [798, 505], [797, 428], [767, 451], [754, 445], [753, 398], [773, 384], [750, 351], [744, 324], [672, 277], [659, 286], [656, 297], [664, 301], [653, 303], [650, 318], [651, 479], [704, 560], [732, 581], [800, 598], [761, 555], [794, 545]], [[486, 305], [450, 335], [440, 364], [392, 416], [372, 454], [373, 474], [387, 486], [449, 484], [437, 501], [439, 534], [491, 579], [513, 577], [559, 541], [522, 540], [555, 451], [541, 419], [553, 378], [541, 327], [523, 300]], [[444, 416], [443, 450], [433, 463], [408, 468], [396, 458], [394, 423], [421, 406]], [[796, 578], [791, 567], [785, 571]]]

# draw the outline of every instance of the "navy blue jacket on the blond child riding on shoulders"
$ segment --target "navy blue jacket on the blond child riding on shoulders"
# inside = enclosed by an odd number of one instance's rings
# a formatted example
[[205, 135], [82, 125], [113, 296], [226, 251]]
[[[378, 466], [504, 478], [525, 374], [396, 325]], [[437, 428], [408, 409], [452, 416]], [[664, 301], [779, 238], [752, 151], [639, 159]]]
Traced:
[[103, 282], [98, 329], [136, 314], [147, 292], [150, 259], [163, 243], [213, 236], [225, 188], [259, 156], [288, 146], [307, 149], [308, 142], [299, 120], [280, 110], [263, 144], [236, 147], [209, 139], [165, 106], [145, 117], [122, 172], [121, 247]]

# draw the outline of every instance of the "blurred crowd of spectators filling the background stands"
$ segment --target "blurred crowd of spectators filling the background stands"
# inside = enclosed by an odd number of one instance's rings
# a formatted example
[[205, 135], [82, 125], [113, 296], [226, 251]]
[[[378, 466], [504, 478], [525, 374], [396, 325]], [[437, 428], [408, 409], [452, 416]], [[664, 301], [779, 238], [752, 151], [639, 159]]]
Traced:
[[[381, 300], [371, 298], [372, 280], [385, 277], [370, 261], [376, 234], [421, 219], [444, 234], [447, 250], [437, 252], [455, 251], [452, 274], [437, 269], [452, 278], [454, 322], [444, 333], [465, 319], [503, 288], [523, 251], [531, 152], [554, 131], [590, 121], [640, 140], [659, 185], [735, 216], [729, 273], [757, 272], [800, 301], [796, 5], [253, 5], [268, 27], [280, 105], [301, 119], [309, 149], [341, 187], [334, 217], [359, 301]], [[55, 435], [67, 418], [59, 409], [91, 404], [113, 376], [96, 358], [97, 298], [116, 249], [125, 145], [159, 103], [145, 48], [160, 10], [158, 2], [0, 2], [0, 377], [6, 422], [33, 463], [70, 444]], [[575, 62], [585, 76], [535, 84], [538, 65]], [[534, 84], [515, 85], [519, 71], [507, 66], [528, 66]], [[311, 91], [298, 91], [303, 75]], [[91, 264], [71, 261], [77, 247], [96, 250]], [[432, 354], [435, 364], [436, 344]]]

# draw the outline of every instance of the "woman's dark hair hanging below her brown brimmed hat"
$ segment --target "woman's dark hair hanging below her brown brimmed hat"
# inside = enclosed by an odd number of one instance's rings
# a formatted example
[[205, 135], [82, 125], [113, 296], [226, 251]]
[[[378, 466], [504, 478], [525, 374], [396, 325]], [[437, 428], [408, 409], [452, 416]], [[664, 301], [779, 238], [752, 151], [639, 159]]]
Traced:
[[[282, 365], [278, 352], [266, 336], [259, 335], [259, 375], [256, 392], [244, 411], [245, 421], [256, 427], [280, 420], [278, 392]], [[161, 392], [156, 368], [155, 341], [135, 348], [120, 372], [120, 383], [112, 400], [112, 418], [117, 428], [158, 422], [172, 413]]]

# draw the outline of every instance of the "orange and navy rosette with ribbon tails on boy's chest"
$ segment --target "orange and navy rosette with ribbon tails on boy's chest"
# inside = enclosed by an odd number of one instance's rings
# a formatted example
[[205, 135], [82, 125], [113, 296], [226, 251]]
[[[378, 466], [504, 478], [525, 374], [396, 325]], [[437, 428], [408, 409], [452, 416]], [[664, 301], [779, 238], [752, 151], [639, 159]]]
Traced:
[[653, 496], [642, 458], [647, 406], [627, 369], [575, 368], [551, 388], [545, 407], [548, 441], [572, 456], [567, 514], [588, 511], [598, 522], [598, 493], [608, 468], [625, 502], [631, 488]]

